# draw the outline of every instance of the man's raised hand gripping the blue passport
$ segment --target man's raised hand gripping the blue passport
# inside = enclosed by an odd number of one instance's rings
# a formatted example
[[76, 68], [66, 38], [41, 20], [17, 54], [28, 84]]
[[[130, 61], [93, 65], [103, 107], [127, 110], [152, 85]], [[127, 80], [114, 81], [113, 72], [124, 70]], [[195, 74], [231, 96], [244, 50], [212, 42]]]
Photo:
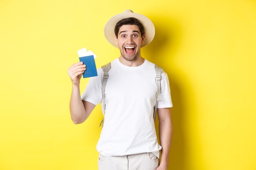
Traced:
[[79, 85], [82, 74], [85, 72], [85, 64], [83, 62], [77, 62], [68, 68], [67, 73], [70, 75], [70, 79], [73, 85]]

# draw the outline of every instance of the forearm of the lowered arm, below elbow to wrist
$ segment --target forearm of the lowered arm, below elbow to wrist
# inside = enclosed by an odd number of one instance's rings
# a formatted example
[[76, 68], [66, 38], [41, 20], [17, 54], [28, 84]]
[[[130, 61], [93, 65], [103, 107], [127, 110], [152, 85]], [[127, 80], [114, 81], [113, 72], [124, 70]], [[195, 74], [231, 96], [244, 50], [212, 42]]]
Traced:
[[160, 139], [160, 145], [162, 146], [161, 164], [163, 166], [168, 167], [169, 152], [170, 152], [171, 140], [172, 140], [171, 118], [165, 119], [164, 121], [159, 122], [159, 139]]

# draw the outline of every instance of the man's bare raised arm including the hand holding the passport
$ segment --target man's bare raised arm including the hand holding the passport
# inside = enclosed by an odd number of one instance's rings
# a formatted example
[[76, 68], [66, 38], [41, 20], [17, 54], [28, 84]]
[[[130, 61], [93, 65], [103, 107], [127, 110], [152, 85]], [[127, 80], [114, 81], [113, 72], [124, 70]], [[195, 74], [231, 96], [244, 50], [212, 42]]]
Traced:
[[72, 94], [70, 98], [70, 115], [74, 124], [83, 123], [90, 115], [95, 105], [81, 100], [80, 95], [80, 79], [82, 73], [86, 70], [83, 62], [73, 64], [68, 68], [67, 73], [72, 81]]

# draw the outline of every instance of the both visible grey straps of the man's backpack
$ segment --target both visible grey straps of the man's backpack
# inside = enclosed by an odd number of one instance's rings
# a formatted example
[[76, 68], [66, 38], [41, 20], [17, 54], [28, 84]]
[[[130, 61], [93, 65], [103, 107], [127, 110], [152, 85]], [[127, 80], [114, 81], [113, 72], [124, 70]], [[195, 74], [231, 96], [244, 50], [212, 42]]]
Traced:
[[[101, 68], [103, 69], [103, 79], [101, 81], [102, 83], [102, 87], [101, 87], [101, 93], [102, 93], [102, 113], [103, 113], [103, 117], [105, 116], [105, 88], [106, 88], [106, 84], [107, 84], [107, 81], [108, 81], [108, 72], [110, 71], [110, 68], [111, 68], [111, 63], [108, 63], [104, 66], [101, 66]], [[157, 82], [157, 99], [156, 99], [156, 102], [155, 102], [155, 107], [154, 107], [154, 115], [153, 115], [153, 118], [154, 118], [154, 121], [156, 119], [156, 113], [157, 113], [157, 106], [158, 106], [158, 102], [161, 102], [161, 98], [160, 98], [160, 91], [161, 91], [161, 73], [163, 72], [163, 68], [157, 66], [157, 64], [155, 64], [155, 72], [156, 72], [156, 76], [155, 76], [155, 79], [156, 79], [156, 82]], [[101, 123], [99, 124], [99, 127], [101, 126], [102, 124], [102, 127], [103, 127], [103, 124], [104, 124], [104, 118], [102, 119]]]

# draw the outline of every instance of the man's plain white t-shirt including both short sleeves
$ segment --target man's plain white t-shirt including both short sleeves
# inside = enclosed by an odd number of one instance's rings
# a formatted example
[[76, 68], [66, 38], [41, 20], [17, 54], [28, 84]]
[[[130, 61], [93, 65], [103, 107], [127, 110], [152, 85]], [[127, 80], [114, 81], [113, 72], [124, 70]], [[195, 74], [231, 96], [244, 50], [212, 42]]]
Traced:
[[[91, 77], [82, 100], [99, 104], [102, 99], [102, 68], [98, 76]], [[97, 151], [105, 156], [123, 156], [153, 152], [159, 157], [162, 147], [157, 142], [153, 119], [157, 97], [156, 72], [153, 63], [145, 60], [136, 67], [121, 64], [119, 59], [111, 62], [105, 88], [105, 120], [97, 144]], [[157, 108], [172, 107], [168, 76], [161, 74], [162, 102]]]

